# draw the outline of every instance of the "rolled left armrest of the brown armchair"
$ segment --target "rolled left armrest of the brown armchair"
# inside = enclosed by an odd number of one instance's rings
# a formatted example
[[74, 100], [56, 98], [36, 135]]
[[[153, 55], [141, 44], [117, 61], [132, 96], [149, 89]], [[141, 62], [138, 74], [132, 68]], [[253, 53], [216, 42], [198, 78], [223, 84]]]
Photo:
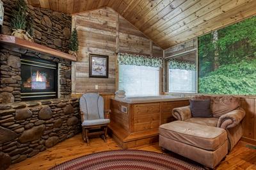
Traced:
[[177, 107], [172, 110], [172, 116], [177, 120], [187, 120], [191, 118], [191, 111], [189, 105], [184, 107]]

